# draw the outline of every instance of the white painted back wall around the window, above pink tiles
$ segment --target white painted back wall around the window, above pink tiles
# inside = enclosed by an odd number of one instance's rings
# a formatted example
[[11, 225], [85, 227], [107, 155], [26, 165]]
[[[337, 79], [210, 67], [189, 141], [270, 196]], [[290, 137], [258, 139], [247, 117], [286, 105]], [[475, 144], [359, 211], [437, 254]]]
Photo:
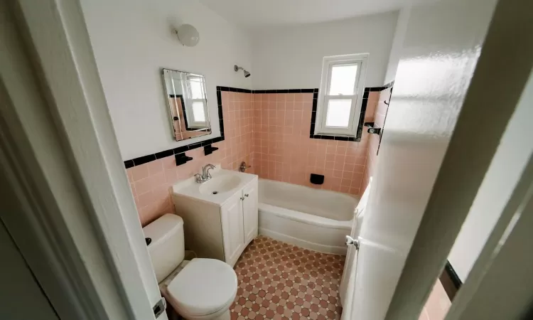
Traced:
[[325, 55], [370, 53], [365, 86], [383, 84], [398, 12], [254, 33], [255, 89], [320, 87]]

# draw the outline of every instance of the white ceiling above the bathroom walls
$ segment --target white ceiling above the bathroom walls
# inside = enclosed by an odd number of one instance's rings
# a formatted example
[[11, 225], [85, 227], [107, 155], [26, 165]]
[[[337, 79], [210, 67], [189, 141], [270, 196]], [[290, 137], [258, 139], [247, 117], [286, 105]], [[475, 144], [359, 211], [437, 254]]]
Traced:
[[431, 0], [200, 0], [227, 21], [248, 28], [340, 20], [424, 1]]

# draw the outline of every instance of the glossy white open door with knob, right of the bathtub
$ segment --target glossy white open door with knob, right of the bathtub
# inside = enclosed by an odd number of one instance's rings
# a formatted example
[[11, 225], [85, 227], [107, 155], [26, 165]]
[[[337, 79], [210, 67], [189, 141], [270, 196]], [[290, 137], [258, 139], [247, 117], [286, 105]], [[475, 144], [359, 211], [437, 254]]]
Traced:
[[[478, 62], [492, 8], [494, 1], [439, 1], [409, 11], [358, 239], [352, 311], [343, 312], [343, 319], [383, 320], [392, 311], [389, 306]], [[423, 303], [411, 302], [420, 304], [413, 312]]]

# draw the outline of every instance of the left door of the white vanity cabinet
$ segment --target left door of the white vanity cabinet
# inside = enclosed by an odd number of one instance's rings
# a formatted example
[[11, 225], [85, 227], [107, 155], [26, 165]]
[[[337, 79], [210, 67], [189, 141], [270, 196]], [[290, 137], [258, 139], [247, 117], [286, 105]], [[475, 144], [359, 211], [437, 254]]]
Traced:
[[244, 250], [244, 231], [242, 228], [242, 196], [237, 193], [222, 206], [222, 237], [224, 256], [227, 264], [235, 265]]

